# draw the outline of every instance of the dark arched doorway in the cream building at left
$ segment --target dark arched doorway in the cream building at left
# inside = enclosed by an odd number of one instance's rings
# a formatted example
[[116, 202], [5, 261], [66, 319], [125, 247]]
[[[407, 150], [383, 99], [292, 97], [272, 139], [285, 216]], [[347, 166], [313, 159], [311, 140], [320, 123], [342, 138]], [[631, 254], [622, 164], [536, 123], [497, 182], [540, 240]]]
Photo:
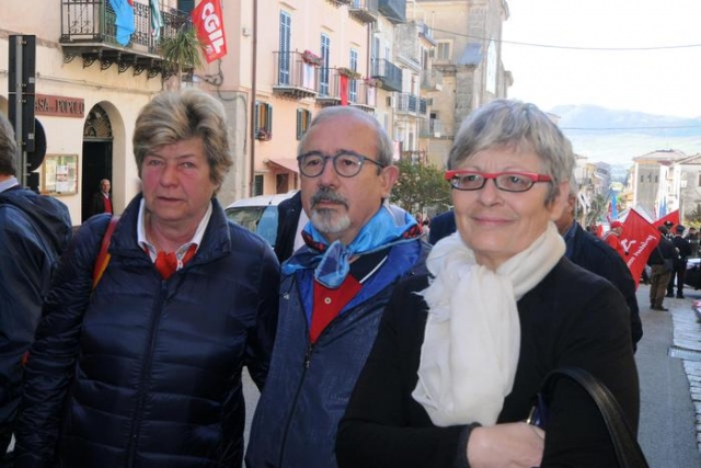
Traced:
[[[92, 214], [92, 196], [100, 190], [100, 181], [112, 181], [112, 124], [99, 104], [90, 110], [83, 126], [83, 158], [81, 181], [82, 220]], [[114, 186], [112, 189], [114, 191]]]

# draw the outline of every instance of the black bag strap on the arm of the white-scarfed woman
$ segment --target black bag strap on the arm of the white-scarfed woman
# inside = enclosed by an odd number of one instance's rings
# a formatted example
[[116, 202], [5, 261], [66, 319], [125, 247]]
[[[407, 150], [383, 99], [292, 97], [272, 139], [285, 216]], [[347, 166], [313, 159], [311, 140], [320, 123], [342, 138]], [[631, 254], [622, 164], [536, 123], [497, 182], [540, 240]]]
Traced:
[[551, 395], [555, 381], [560, 377], [567, 377], [576, 381], [589, 393], [604, 418], [621, 468], [647, 468], [645, 455], [628, 424], [621, 406], [611, 391], [596, 377], [582, 368], [561, 367], [545, 376], [542, 386], [545, 395]]

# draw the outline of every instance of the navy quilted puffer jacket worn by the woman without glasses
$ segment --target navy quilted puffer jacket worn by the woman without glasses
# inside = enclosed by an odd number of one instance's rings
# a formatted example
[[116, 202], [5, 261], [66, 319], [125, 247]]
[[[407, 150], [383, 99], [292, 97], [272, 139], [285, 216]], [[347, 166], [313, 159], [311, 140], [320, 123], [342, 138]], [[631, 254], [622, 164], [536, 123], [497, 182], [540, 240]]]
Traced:
[[140, 199], [94, 292], [110, 216], [89, 219], [61, 259], [26, 367], [16, 467], [241, 466], [241, 370], [264, 384], [277, 259], [214, 201], [197, 253], [164, 281], [137, 243]]

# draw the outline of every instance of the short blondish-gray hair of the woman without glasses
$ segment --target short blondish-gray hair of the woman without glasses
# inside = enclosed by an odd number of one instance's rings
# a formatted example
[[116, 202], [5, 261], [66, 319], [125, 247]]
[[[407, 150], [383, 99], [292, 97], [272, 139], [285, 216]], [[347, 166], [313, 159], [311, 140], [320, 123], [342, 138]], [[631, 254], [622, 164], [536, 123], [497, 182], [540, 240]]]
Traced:
[[218, 189], [233, 165], [228, 128], [223, 105], [204, 91], [191, 88], [158, 94], [136, 119], [133, 142], [139, 178], [143, 159], [153, 149], [202, 138], [209, 179]]

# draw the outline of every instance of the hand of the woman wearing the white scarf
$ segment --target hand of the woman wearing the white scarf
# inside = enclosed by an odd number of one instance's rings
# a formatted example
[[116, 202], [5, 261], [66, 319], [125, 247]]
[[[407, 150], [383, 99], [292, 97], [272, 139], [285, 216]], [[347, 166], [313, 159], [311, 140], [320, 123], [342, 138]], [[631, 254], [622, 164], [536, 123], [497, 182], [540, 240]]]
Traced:
[[543, 458], [545, 433], [525, 422], [475, 427], [468, 440], [471, 468], [532, 468]]

